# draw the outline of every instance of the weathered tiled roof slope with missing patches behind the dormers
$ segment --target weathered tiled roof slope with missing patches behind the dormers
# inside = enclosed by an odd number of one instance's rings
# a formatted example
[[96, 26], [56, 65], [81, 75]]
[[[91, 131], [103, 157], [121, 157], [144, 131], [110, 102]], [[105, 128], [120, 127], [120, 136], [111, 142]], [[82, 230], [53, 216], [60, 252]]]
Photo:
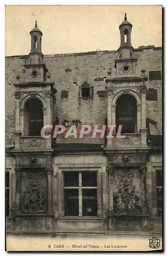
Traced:
[[[99, 51], [74, 54], [45, 55], [44, 61], [55, 81], [57, 89], [55, 113], [59, 121], [66, 117], [68, 121], [79, 119], [84, 124], [104, 124], [107, 117], [107, 98], [99, 97], [99, 91], [106, 90], [103, 77], [110, 70], [115, 77], [114, 59], [117, 51]], [[161, 48], [135, 49], [138, 57], [137, 75], [141, 69], [160, 71], [162, 62]], [[13, 82], [15, 75], [20, 75], [20, 81], [25, 79], [25, 59], [28, 56], [6, 57], [6, 144], [14, 142], [15, 129], [15, 97]], [[161, 74], [162, 75], [162, 74]], [[80, 86], [87, 81], [92, 88], [91, 99], [79, 100]], [[152, 127], [152, 134], [161, 134], [162, 127], [162, 84], [161, 80], [148, 80], [148, 89], [157, 90], [158, 100], [147, 101], [147, 117], [155, 120], [157, 124]], [[61, 98], [61, 92], [67, 91], [68, 98]]]

